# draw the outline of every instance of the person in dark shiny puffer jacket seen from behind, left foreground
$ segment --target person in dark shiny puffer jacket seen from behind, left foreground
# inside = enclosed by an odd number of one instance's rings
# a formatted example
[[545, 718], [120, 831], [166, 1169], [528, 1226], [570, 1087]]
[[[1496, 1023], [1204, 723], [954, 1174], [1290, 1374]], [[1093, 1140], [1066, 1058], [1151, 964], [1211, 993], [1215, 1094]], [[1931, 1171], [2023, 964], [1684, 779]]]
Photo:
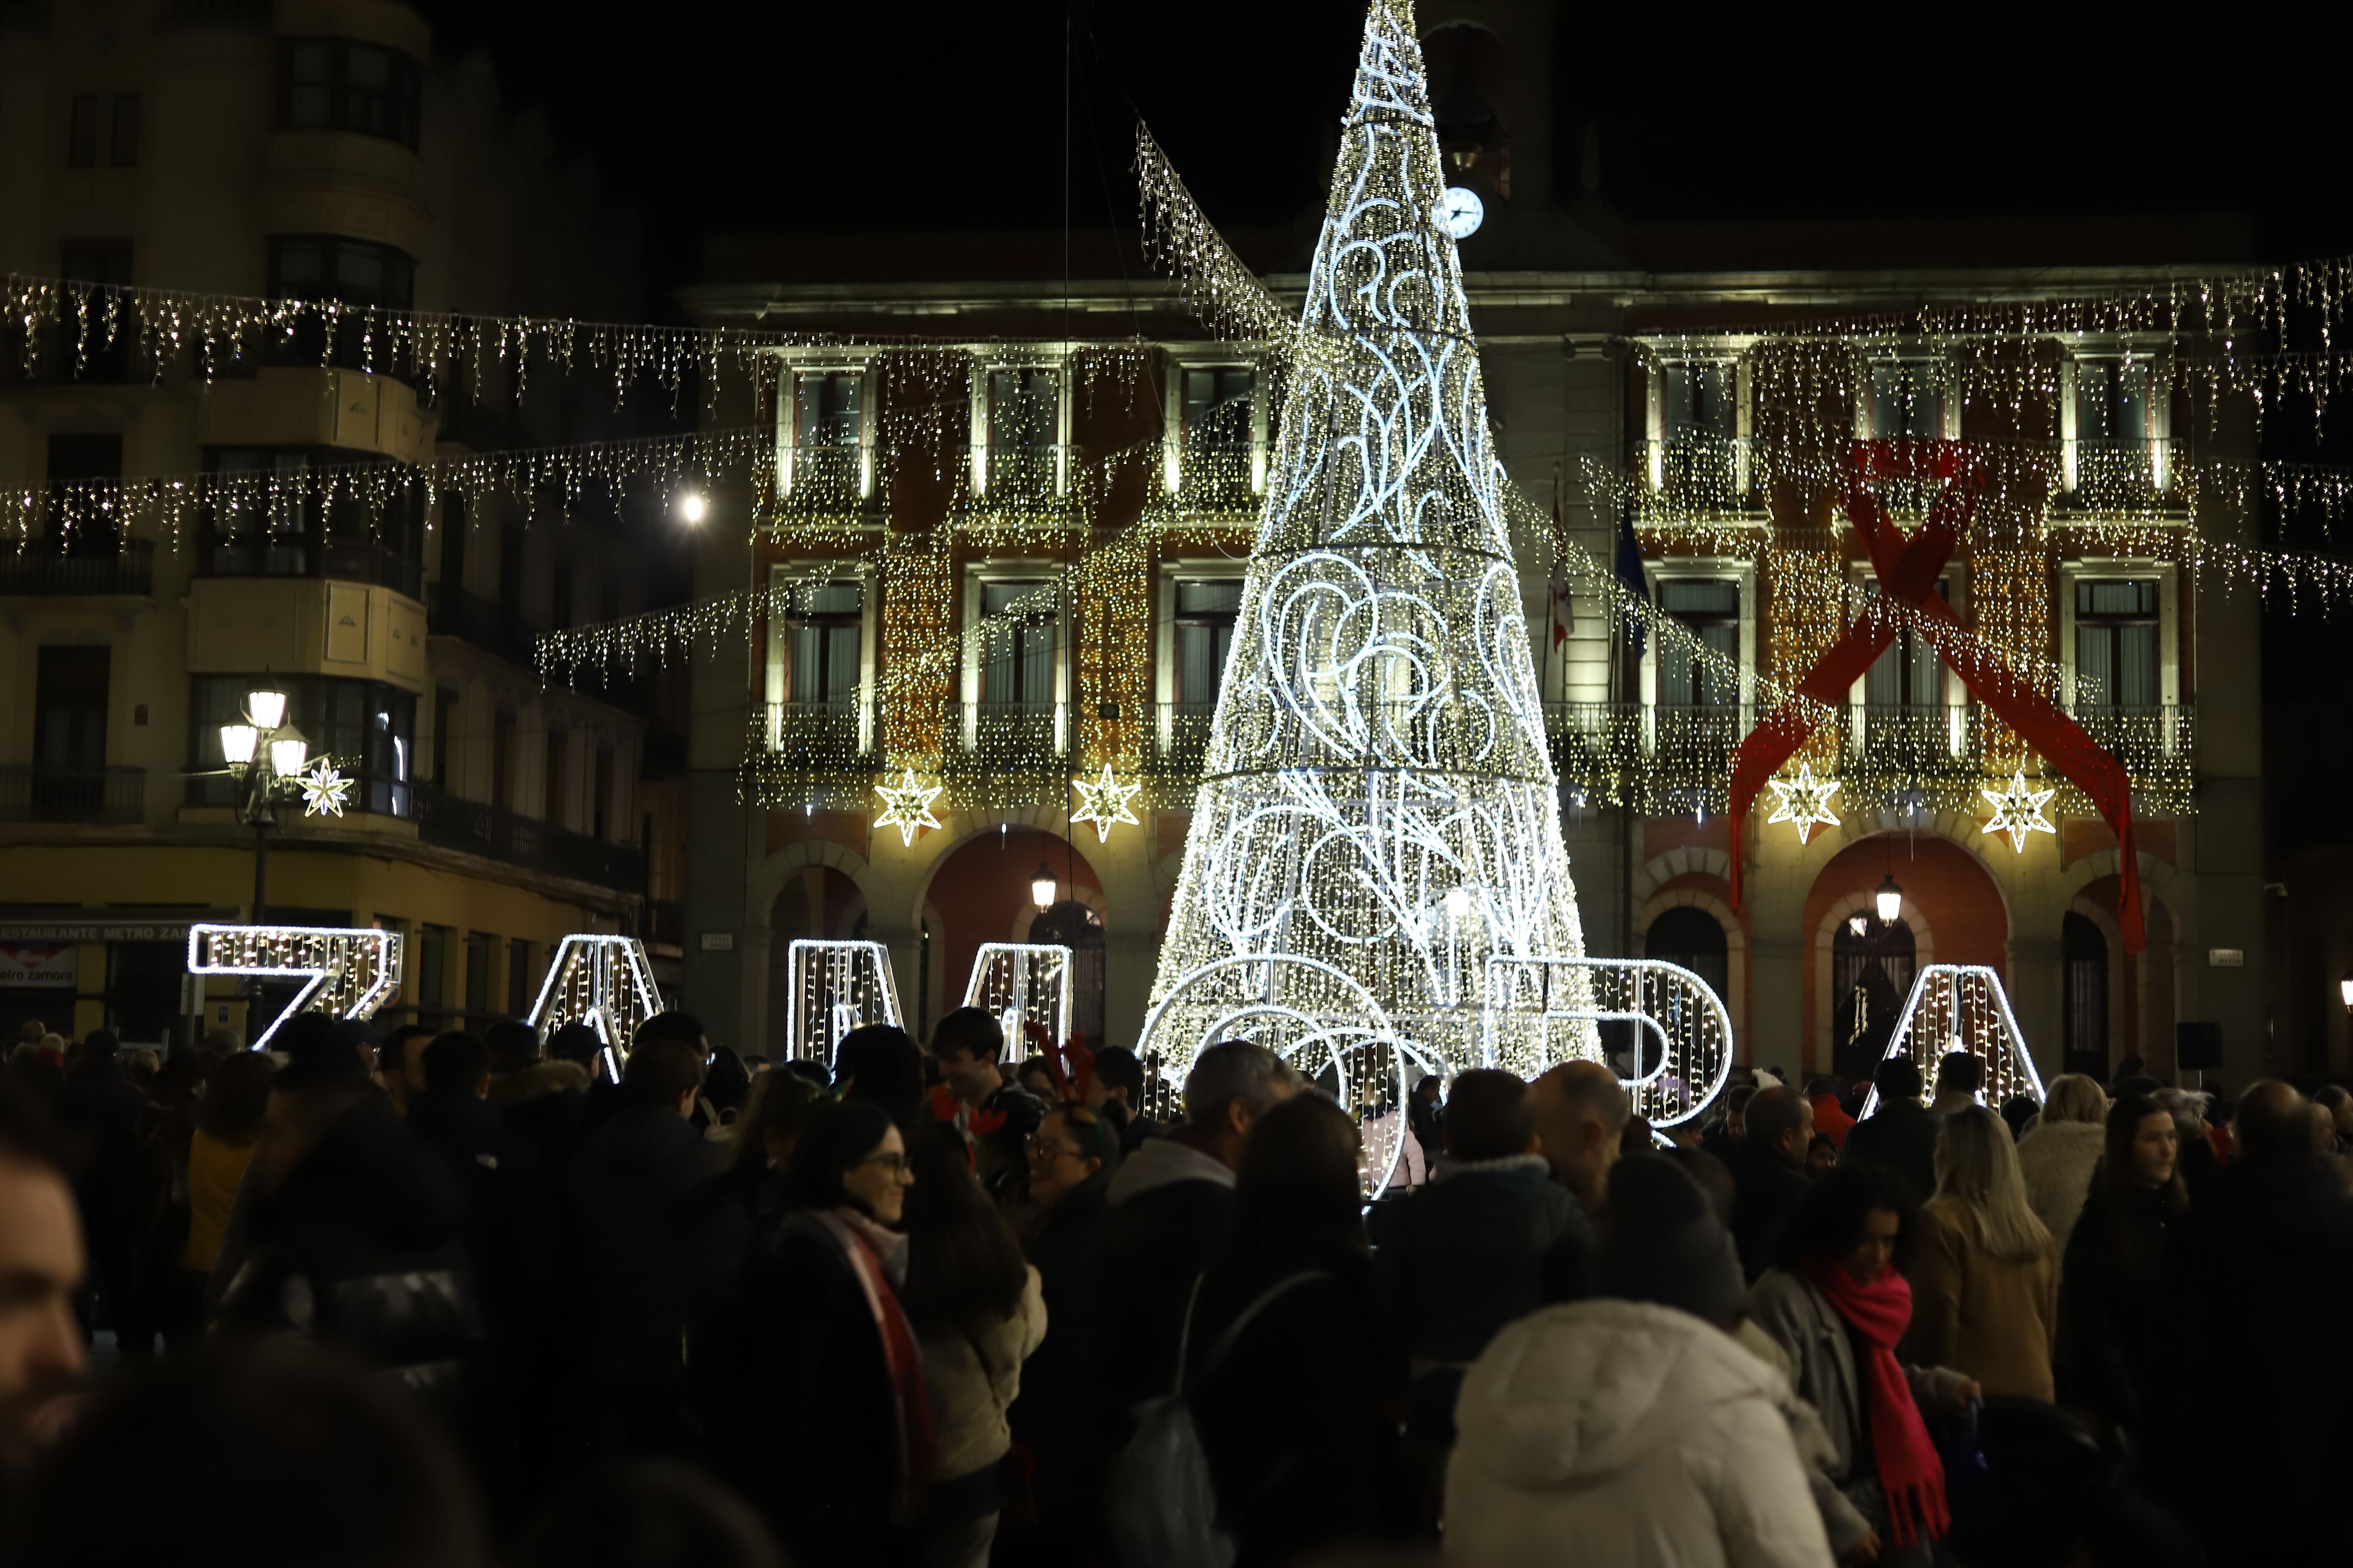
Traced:
[[247, 1248], [216, 1324], [334, 1345], [456, 1420], [480, 1338], [466, 1197], [351, 1046], [289, 1058], [271, 1079]]

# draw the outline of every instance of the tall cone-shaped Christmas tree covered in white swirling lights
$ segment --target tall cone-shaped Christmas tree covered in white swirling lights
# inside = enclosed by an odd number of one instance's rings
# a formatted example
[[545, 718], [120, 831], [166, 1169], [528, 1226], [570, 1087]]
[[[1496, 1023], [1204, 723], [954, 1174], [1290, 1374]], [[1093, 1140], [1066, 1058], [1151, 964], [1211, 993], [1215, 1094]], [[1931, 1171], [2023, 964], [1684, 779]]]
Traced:
[[1409, 0], [1374, 0], [1160, 950], [1169, 1070], [1257, 1039], [1365, 1107], [1402, 1060], [1598, 1056], [1544, 966], [1584, 933], [1442, 195]]

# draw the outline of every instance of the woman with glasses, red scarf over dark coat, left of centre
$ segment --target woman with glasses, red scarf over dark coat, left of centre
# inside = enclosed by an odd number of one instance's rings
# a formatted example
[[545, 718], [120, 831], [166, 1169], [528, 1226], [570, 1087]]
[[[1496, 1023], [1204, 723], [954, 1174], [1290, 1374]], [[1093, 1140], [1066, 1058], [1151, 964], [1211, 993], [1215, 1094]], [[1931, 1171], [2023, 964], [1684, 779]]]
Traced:
[[798, 1568], [920, 1556], [936, 1439], [899, 1300], [913, 1182], [899, 1126], [859, 1103], [816, 1114], [784, 1173], [741, 1476]]

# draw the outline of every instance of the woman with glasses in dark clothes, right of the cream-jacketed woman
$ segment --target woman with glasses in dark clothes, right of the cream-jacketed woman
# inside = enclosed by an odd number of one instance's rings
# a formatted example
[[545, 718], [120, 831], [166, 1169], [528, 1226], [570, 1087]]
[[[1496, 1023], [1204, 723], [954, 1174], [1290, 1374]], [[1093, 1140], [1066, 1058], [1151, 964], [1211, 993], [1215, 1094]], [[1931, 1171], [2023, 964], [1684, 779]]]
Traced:
[[1104, 1227], [1111, 1211], [1104, 1194], [1120, 1164], [1120, 1133], [1092, 1105], [1064, 1100], [1045, 1114], [1028, 1140], [1031, 1265], [1045, 1286], [1045, 1345], [1021, 1368], [1021, 1403], [1014, 1406], [1014, 1441], [1031, 1455], [1031, 1488], [1042, 1561], [1085, 1561], [1089, 1542], [1066, 1535], [1096, 1516], [1104, 1486], [1101, 1443], [1085, 1429], [1089, 1415], [1087, 1375], [1096, 1356], [1096, 1279]]

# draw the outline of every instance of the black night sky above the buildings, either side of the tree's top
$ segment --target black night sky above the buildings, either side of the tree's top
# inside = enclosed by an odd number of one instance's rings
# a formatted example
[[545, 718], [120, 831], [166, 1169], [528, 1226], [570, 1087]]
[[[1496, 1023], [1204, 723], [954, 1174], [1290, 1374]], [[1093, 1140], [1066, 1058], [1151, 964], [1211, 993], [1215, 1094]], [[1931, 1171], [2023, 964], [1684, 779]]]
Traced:
[[[1141, 113], [1209, 216], [1322, 195], [1358, 0], [428, 0], [647, 235], [647, 310], [706, 233], [1134, 226]], [[1633, 221], [2226, 214], [2264, 259], [2353, 249], [2332, 49], [1946, 12], [1800, 33], [1786, 7], [1562, 7], [1555, 165]], [[2108, 7], [2104, 7], [2108, 9]], [[2146, 14], [2144, 16], [2153, 16]], [[2031, 19], [2031, 24], [2028, 24]]]

